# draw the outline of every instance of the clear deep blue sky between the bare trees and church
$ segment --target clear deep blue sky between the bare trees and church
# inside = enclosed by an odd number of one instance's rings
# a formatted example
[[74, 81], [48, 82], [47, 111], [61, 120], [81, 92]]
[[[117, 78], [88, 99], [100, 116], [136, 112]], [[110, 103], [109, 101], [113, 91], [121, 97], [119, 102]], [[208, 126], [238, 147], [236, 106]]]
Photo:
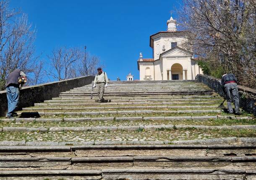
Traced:
[[[99, 56], [111, 80], [139, 79], [139, 53], [152, 58], [149, 36], [167, 30], [170, 11], [181, 0], [10, 0], [37, 29], [35, 46], [41, 59], [60, 46], [84, 47]], [[173, 18], [177, 14], [173, 13]], [[44, 67], [47, 68], [47, 67]]]

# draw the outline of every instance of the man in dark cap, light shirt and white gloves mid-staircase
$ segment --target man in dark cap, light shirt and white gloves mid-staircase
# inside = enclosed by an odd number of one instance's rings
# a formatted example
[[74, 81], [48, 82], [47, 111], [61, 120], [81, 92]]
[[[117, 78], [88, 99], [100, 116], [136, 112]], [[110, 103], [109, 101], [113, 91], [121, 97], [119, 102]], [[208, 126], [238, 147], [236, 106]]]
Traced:
[[107, 78], [107, 73], [102, 71], [102, 68], [97, 68], [98, 73], [95, 76], [94, 79], [94, 85], [93, 87], [98, 88], [98, 96], [99, 96], [99, 102], [104, 102], [103, 94], [105, 88], [107, 88], [107, 83], [108, 83], [108, 78]]

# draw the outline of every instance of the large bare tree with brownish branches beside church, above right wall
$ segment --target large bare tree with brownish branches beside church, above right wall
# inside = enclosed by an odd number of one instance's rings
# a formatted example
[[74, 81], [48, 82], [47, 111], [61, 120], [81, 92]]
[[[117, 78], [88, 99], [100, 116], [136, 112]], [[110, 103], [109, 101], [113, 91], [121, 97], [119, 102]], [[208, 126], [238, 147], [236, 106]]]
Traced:
[[256, 0], [183, 0], [180, 18], [199, 57], [256, 88]]

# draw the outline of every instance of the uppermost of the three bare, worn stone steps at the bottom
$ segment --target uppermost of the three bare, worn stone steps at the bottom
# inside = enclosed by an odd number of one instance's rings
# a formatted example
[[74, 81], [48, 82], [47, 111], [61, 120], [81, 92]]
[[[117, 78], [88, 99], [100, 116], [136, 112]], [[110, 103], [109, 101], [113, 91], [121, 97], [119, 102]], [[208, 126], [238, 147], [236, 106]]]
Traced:
[[[223, 139], [219, 139], [223, 142]], [[43, 145], [47, 144], [47, 145]], [[256, 145], [57, 145], [54, 142], [27, 142], [1, 146], [0, 157], [101, 157], [101, 156], [256, 156]], [[18, 152], [18, 153], [17, 153]]]

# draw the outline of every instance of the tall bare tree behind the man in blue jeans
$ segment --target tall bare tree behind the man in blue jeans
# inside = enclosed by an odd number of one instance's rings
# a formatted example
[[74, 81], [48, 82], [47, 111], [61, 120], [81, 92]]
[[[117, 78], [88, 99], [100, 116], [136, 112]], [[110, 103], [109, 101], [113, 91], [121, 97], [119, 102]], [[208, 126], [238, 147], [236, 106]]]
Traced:
[[[8, 9], [8, 3], [0, 1], [0, 89], [4, 89], [7, 75], [16, 68], [27, 75], [36, 74], [35, 30], [28, 23], [26, 14]], [[32, 30], [31, 30], [32, 29]]]

